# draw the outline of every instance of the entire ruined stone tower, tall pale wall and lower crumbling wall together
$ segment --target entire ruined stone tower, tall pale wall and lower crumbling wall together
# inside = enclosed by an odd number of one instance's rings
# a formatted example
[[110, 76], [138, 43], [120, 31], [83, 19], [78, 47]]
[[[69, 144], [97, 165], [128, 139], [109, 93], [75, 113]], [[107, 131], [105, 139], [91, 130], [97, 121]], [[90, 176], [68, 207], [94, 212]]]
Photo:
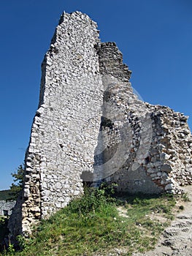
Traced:
[[115, 43], [100, 42], [88, 15], [61, 16], [42, 62], [12, 233], [28, 233], [39, 219], [66, 206], [82, 194], [83, 181], [115, 182], [132, 193], [175, 193], [191, 184], [187, 117], [142, 102], [130, 75]]

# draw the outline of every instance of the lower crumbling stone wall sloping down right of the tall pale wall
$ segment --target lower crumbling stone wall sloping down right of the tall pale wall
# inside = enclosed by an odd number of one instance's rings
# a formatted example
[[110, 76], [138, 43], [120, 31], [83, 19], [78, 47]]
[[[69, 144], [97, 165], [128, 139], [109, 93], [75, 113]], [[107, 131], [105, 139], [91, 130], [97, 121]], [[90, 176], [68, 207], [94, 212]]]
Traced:
[[115, 43], [102, 43], [98, 53], [104, 103], [95, 179], [129, 193], [180, 193], [192, 184], [188, 117], [137, 98]]

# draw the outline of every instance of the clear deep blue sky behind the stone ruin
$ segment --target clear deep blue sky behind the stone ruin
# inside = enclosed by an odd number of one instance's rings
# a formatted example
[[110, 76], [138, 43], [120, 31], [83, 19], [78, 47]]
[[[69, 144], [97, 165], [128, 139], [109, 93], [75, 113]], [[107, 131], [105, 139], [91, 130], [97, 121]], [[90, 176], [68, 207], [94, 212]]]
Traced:
[[41, 62], [63, 11], [98, 23], [116, 42], [145, 102], [191, 116], [191, 0], [1, 0], [0, 190], [23, 162], [39, 100]]

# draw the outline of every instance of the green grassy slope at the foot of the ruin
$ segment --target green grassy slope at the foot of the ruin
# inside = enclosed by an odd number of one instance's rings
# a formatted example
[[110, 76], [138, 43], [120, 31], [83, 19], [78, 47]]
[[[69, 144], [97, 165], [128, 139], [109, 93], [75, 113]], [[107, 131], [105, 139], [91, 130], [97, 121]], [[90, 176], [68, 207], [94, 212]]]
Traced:
[[[131, 255], [152, 249], [172, 219], [174, 197], [124, 195], [117, 199], [111, 192], [112, 187], [110, 193], [105, 187], [85, 189], [81, 198], [42, 221], [30, 238], [20, 237], [20, 252], [5, 255], [109, 255], [114, 248], [126, 248], [124, 255]], [[119, 206], [127, 216], [120, 216]], [[164, 222], [155, 214], [164, 216]]]

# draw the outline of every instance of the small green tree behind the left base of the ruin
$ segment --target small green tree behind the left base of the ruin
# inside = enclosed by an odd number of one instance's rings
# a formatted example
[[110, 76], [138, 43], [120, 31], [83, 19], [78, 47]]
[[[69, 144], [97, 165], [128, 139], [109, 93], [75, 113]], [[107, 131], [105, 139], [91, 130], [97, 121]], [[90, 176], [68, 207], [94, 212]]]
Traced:
[[12, 197], [12, 200], [17, 199], [20, 190], [23, 188], [24, 181], [24, 165], [19, 165], [17, 172], [12, 173], [12, 177], [14, 178], [14, 183], [10, 186], [9, 194]]

